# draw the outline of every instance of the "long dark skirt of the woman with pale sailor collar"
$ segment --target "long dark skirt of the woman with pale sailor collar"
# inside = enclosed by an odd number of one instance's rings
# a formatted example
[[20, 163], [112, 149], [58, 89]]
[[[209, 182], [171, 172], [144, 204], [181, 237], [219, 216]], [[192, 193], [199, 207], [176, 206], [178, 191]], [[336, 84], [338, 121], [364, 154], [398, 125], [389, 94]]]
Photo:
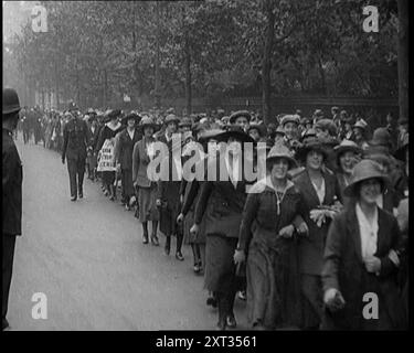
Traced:
[[251, 243], [246, 265], [247, 320], [268, 329], [301, 325], [300, 277], [293, 240]]

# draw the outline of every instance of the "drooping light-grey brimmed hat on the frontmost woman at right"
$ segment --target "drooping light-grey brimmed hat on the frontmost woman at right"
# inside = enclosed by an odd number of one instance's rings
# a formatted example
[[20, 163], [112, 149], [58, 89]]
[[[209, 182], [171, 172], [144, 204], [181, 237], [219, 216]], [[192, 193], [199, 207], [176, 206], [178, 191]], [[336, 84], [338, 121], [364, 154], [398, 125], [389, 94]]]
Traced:
[[389, 184], [389, 178], [384, 174], [381, 165], [370, 159], [363, 159], [355, 164], [351, 174], [351, 182], [344, 189], [346, 196], [355, 196], [357, 185], [368, 179], [380, 179], [383, 184], [383, 191]]

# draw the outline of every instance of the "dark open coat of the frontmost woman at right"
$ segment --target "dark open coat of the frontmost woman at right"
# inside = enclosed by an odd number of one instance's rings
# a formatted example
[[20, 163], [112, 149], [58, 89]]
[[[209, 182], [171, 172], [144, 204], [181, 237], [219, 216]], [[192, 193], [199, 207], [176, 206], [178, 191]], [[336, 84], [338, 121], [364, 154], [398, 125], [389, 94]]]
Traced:
[[[402, 299], [397, 290], [397, 267], [389, 258], [391, 249], [402, 246], [400, 229], [394, 216], [378, 207], [378, 249], [381, 260], [379, 275], [367, 271], [361, 255], [361, 235], [354, 203], [350, 204], [332, 222], [323, 256], [323, 289], [336, 288], [346, 301], [337, 313], [325, 311], [325, 329], [403, 329], [405, 322]], [[378, 320], [363, 318], [365, 293], [379, 298]]]

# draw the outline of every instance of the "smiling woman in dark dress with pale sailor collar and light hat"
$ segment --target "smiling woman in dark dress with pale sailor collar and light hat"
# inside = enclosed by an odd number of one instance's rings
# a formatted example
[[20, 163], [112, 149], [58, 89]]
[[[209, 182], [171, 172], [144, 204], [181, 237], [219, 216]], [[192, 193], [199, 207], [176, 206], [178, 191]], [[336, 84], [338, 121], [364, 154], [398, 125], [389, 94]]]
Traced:
[[300, 192], [287, 178], [295, 165], [286, 146], [273, 147], [269, 175], [252, 188], [243, 211], [234, 260], [247, 255], [247, 319], [255, 329], [301, 325], [297, 236], [308, 229]]

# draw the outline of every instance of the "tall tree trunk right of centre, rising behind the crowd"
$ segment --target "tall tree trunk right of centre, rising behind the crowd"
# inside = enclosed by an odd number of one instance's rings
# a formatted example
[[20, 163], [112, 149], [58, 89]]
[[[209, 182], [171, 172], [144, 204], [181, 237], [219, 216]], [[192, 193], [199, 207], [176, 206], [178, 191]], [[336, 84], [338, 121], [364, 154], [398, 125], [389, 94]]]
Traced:
[[267, 24], [265, 33], [265, 47], [263, 53], [262, 62], [262, 85], [263, 85], [263, 119], [265, 124], [270, 122], [272, 118], [272, 85], [270, 85], [270, 71], [272, 71], [272, 50], [274, 43], [274, 26], [275, 26], [275, 14], [273, 12], [274, 1], [264, 1], [265, 11], [267, 14]]

